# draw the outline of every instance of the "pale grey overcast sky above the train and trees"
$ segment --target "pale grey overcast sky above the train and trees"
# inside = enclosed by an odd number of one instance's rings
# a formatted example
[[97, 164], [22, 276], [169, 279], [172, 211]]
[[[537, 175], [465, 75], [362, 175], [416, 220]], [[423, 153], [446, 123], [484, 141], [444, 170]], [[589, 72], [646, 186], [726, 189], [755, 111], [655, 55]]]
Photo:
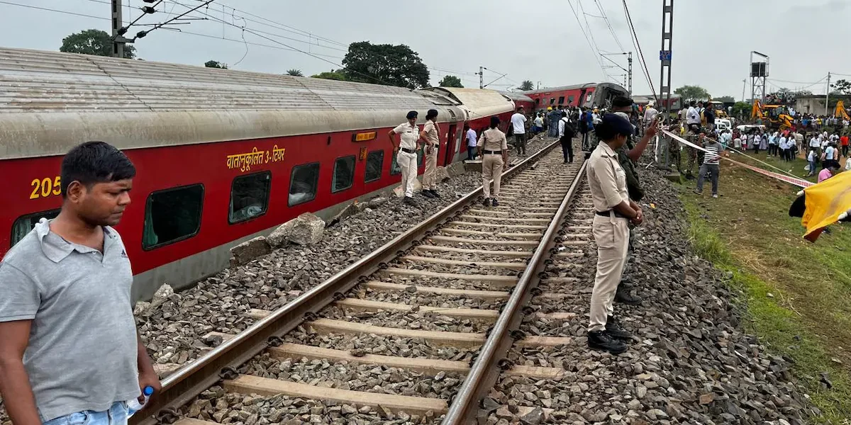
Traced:
[[[124, 9], [125, 20], [129, 19], [128, 15], [135, 19], [140, 14], [138, 8], [144, 4], [142, 0], [123, 2], [125, 6], [129, 3], [134, 7], [132, 12]], [[186, 11], [180, 3], [200, 4], [199, 0], [178, 0], [177, 3], [164, 0], [157, 10], [174, 14]], [[658, 90], [662, 0], [627, 0], [627, 3], [650, 77]], [[465, 87], [477, 87], [478, 77], [473, 73], [478, 71], [479, 65], [492, 70], [485, 71], [485, 82], [499, 77], [493, 71], [507, 73], [505, 79], [495, 82], [491, 88], [517, 87], [527, 79], [536, 84], [540, 82], [541, 87], [612, 81], [604, 76], [604, 71], [615, 76], [617, 81], [623, 81], [623, 77], [617, 75], [624, 71], [618, 68], [603, 71], [597, 60], [597, 50], [636, 51], [621, 0], [537, 0], [535, 7], [531, 4], [533, 2], [518, 0], [214, 0], [203, 10], [237, 26], [269, 33], [264, 36], [274, 41], [248, 32], [244, 37], [247, 42], [278, 48], [248, 45], [246, 52], [243, 31], [213, 20], [192, 20], [189, 25], [177, 26], [209, 37], [160, 29], [140, 39], [136, 48], [139, 57], [146, 60], [203, 65], [215, 59], [231, 65], [232, 69], [283, 73], [296, 68], [309, 76], [339, 66], [280, 49], [283, 46], [279, 43], [327, 55], [323, 57], [336, 64], [346, 54], [350, 42], [404, 43], [432, 68], [432, 84], [437, 84], [445, 74], [454, 74], [462, 78]], [[597, 48], [591, 48], [585, 40], [571, 5], [579, 14], [581, 26], [590, 27]], [[223, 12], [224, 6], [255, 14], [275, 24], [234, 12], [231, 8]], [[599, 7], [608, 16], [623, 49], [615, 42], [607, 21], [599, 17]], [[0, 45], [58, 50], [62, 38], [71, 32], [88, 28], [110, 31], [109, 20], [97, 19], [97, 16], [110, 16], [108, 0], [2, 0]], [[249, 20], [240, 20], [240, 16]], [[157, 23], [168, 17], [149, 15], [140, 20], [140, 24]], [[742, 80], [748, 75], [750, 51], [757, 50], [771, 57], [769, 92], [777, 87], [807, 87], [822, 94], [825, 82], [812, 83], [826, 77], [828, 71], [851, 74], [851, 55], [842, 47], [848, 43], [849, 23], [849, 0], [680, 0], [674, 16], [673, 87], [697, 84], [715, 97], [732, 95], [740, 99]], [[307, 32], [313, 36], [306, 36]], [[317, 41], [317, 37], [321, 38]], [[626, 67], [625, 56], [610, 57]], [[650, 89], [643, 77], [640, 59], [637, 54], [634, 57], [633, 92], [648, 94]], [[613, 65], [605, 59], [600, 61], [603, 65]], [[834, 77], [834, 80], [837, 78], [842, 77]], [[495, 85], [500, 83], [510, 86]], [[750, 82], [748, 84], [747, 97], [750, 97]]]

